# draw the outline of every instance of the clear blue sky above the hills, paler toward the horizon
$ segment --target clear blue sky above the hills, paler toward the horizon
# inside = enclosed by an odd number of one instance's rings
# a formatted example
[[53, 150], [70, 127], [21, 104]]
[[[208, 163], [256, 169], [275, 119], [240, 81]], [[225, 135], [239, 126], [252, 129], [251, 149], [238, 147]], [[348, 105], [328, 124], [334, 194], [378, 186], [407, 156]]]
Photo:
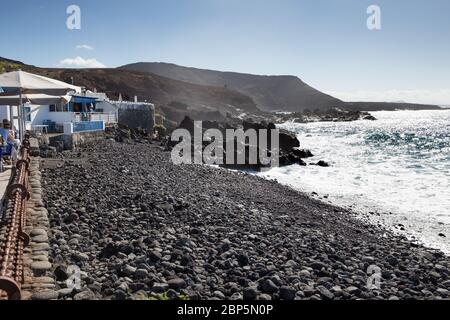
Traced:
[[[72, 4], [81, 30], [66, 27]], [[372, 4], [381, 30], [367, 28]], [[293, 74], [345, 100], [450, 104], [448, 0], [15, 0], [0, 30], [0, 56], [38, 66], [164, 61]]]

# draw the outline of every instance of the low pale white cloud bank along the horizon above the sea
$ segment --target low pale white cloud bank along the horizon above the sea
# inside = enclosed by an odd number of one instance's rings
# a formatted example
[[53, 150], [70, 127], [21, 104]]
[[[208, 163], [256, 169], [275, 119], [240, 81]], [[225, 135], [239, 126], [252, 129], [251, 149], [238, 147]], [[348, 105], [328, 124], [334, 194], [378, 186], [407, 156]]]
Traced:
[[327, 93], [344, 101], [409, 102], [437, 105], [450, 104], [450, 89], [327, 91]]

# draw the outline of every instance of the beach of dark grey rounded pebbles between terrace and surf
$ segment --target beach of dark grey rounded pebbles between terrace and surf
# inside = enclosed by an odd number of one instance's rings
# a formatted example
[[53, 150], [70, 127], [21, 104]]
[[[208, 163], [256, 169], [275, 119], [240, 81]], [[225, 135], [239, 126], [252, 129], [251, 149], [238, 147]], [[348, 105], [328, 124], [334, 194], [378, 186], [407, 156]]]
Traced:
[[175, 166], [158, 144], [104, 139], [41, 170], [59, 299], [450, 298], [440, 251], [276, 181]]

